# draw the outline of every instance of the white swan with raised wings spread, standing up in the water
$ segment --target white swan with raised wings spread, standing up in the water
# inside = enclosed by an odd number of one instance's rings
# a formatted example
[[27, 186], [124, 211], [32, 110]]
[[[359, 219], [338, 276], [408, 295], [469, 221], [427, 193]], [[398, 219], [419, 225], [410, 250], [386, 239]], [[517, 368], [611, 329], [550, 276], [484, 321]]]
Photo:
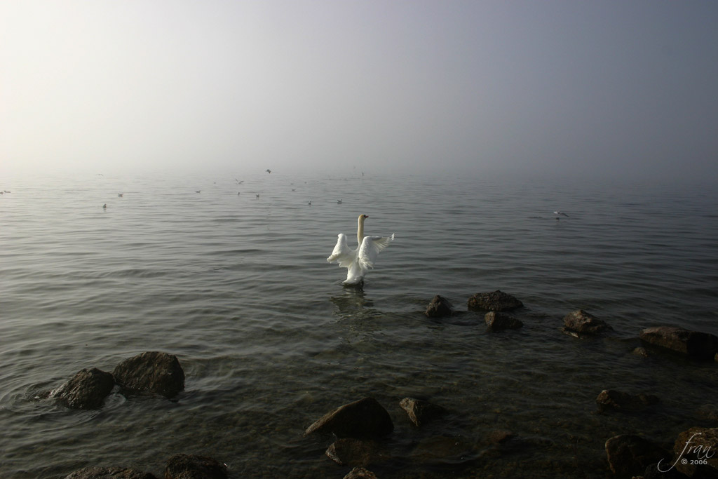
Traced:
[[327, 258], [330, 263], [337, 262], [341, 268], [348, 269], [347, 279], [343, 284], [362, 284], [366, 271], [374, 267], [376, 257], [394, 239], [393, 233], [388, 237], [364, 236], [364, 220], [366, 218], [369, 217], [359, 215], [358, 218], [357, 241], [359, 246], [355, 250], [351, 250], [347, 246], [347, 236], [344, 233], [339, 233], [337, 246]]

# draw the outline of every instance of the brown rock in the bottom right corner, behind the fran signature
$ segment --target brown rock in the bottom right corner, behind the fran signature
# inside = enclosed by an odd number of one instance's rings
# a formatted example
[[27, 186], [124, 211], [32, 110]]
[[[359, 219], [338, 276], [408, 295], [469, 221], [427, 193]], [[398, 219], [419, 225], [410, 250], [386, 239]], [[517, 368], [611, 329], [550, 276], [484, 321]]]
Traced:
[[691, 427], [673, 445], [676, 469], [689, 478], [718, 478], [717, 450], [718, 427]]

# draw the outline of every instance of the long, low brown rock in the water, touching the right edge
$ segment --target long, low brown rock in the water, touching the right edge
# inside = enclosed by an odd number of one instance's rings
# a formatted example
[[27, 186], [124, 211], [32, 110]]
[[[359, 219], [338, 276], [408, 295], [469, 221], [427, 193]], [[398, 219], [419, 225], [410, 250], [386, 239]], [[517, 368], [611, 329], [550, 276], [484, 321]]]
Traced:
[[716, 335], [686, 330], [683, 327], [648, 327], [640, 332], [640, 340], [650, 345], [704, 360], [712, 360], [718, 353], [718, 337]]

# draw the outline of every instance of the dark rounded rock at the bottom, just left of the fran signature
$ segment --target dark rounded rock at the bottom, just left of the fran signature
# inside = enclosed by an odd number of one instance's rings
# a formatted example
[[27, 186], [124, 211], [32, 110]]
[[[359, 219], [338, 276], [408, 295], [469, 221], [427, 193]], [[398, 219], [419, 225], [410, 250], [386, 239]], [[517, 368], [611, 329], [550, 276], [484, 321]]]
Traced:
[[620, 477], [639, 475], [648, 465], [671, 457], [671, 453], [643, 437], [620, 434], [606, 441], [606, 456], [611, 471]]

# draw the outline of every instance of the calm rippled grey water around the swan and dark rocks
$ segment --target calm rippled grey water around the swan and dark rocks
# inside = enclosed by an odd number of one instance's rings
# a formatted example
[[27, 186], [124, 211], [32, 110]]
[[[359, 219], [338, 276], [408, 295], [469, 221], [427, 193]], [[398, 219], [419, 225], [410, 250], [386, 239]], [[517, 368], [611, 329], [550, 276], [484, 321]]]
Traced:
[[[669, 445], [705, 425], [696, 409], [716, 402], [714, 363], [630, 351], [643, 327], [718, 333], [715, 190], [239, 179], [3, 179], [1, 477], [64, 478], [86, 465], [161, 476], [186, 452], [226, 462], [233, 478], [341, 478], [350, 468], [325, 457], [331, 439], [302, 432], [364, 396], [395, 424], [392, 458], [370, 467], [381, 478], [602, 478], [609, 437]], [[559, 209], [569, 218], [554, 219]], [[367, 234], [396, 233], [363, 291], [343, 288], [346, 270], [325, 261], [337, 233], [353, 243], [360, 213]], [[514, 313], [521, 330], [490, 333], [465, 312], [471, 294], [495, 289], [526, 305]], [[465, 314], [424, 317], [435, 294]], [[579, 308], [613, 334], [562, 334]], [[145, 350], [180, 359], [175, 400], [112, 394], [102, 409], [73, 411], [35, 399]], [[661, 404], [597, 414], [609, 388]], [[398, 406], [406, 396], [451, 412], [417, 429]], [[492, 449], [495, 429], [516, 439]]]

